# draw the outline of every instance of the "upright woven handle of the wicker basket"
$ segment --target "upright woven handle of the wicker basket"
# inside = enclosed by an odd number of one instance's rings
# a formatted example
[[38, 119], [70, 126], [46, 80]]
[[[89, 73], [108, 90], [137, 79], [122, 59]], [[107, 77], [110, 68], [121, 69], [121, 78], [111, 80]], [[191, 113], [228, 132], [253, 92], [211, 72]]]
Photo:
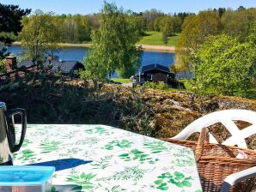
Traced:
[[210, 144], [210, 135], [209, 135], [209, 129], [203, 128], [201, 129], [198, 143], [195, 151], [195, 159], [198, 162], [198, 160], [201, 158], [204, 148], [208, 148]]

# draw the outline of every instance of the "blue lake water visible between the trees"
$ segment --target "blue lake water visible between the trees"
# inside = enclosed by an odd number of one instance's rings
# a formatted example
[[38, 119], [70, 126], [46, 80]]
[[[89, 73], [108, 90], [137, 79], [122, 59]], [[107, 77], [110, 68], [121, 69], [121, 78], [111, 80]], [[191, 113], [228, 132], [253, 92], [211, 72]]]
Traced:
[[[21, 51], [24, 51], [20, 45], [12, 45], [9, 47], [9, 52], [17, 55]], [[88, 53], [88, 48], [84, 47], [66, 47], [62, 51], [59, 51], [56, 55], [62, 60], [75, 60], [82, 61]], [[174, 64], [174, 53], [161, 52], [161, 51], [143, 51], [142, 66], [158, 63], [164, 66], [170, 67]]]

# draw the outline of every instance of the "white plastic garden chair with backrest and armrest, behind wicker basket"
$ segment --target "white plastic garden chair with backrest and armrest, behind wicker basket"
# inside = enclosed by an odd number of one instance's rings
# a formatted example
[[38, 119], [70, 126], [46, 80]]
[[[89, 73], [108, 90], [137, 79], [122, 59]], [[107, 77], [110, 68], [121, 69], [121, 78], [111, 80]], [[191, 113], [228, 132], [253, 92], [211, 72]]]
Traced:
[[[246, 129], [238, 129], [234, 121], [241, 120], [251, 123]], [[247, 148], [245, 139], [253, 134], [256, 134], [256, 112], [247, 110], [224, 110], [212, 112], [204, 117], [200, 117], [172, 139], [186, 140], [195, 132], [200, 132], [202, 128], [208, 127], [215, 123], [222, 123], [231, 134], [228, 140], [223, 141], [223, 145]], [[210, 134], [210, 142], [218, 143], [216, 138]], [[239, 183], [247, 178], [256, 177], [256, 167], [249, 168], [244, 171], [236, 172], [229, 177], [226, 177], [222, 184], [221, 192], [229, 191], [230, 187], [235, 183]]]

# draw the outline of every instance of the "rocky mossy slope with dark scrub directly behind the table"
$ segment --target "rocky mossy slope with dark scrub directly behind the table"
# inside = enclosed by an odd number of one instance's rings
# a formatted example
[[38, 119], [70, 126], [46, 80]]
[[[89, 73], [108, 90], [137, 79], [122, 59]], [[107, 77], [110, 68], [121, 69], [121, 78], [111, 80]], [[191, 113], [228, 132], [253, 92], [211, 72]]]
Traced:
[[[28, 74], [0, 86], [0, 100], [8, 108], [27, 110], [28, 123], [103, 123], [158, 138], [172, 137], [212, 111], [256, 111], [256, 101], [185, 91], [170, 92], [71, 80], [67, 77]], [[242, 129], [247, 123], [236, 122]], [[210, 127], [222, 141], [229, 137], [221, 124]], [[195, 139], [195, 136], [192, 136]], [[256, 148], [256, 135], [249, 147]]]

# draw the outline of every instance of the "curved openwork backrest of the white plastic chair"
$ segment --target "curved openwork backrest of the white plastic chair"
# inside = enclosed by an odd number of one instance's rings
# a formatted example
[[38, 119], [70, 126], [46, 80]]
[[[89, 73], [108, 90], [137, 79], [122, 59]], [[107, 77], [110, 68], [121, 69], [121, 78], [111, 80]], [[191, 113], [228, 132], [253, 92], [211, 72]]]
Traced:
[[[238, 129], [234, 121], [241, 120], [252, 125], [245, 129]], [[180, 133], [174, 136], [172, 139], [186, 140], [187, 137], [195, 132], [200, 132], [202, 128], [208, 127], [215, 123], [222, 123], [231, 134], [228, 140], [223, 141], [223, 145], [247, 148], [247, 142], [245, 139], [253, 134], [256, 134], [256, 112], [248, 110], [224, 110], [216, 111], [210, 114], [200, 117], [191, 124], [189, 124], [185, 129], [180, 131]], [[210, 142], [218, 143], [216, 138], [210, 134]]]

